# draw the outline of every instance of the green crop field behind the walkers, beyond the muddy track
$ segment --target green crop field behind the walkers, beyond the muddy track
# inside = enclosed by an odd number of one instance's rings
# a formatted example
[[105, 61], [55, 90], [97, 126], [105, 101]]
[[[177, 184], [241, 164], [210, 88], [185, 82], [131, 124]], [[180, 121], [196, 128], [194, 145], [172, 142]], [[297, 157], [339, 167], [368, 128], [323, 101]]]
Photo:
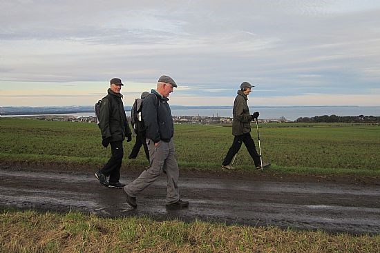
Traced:
[[[380, 175], [380, 125], [342, 123], [263, 123], [259, 125], [263, 160], [268, 172], [301, 174]], [[258, 149], [256, 124], [252, 136]], [[175, 147], [180, 168], [220, 170], [234, 136], [230, 125], [175, 125]], [[99, 128], [94, 123], [0, 119], [0, 159], [55, 161], [99, 165], [108, 159]], [[125, 156], [134, 139], [124, 142]], [[144, 166], [143, 151], [124, 166]], [[254, 170], [243, 145], [234, 163]]]

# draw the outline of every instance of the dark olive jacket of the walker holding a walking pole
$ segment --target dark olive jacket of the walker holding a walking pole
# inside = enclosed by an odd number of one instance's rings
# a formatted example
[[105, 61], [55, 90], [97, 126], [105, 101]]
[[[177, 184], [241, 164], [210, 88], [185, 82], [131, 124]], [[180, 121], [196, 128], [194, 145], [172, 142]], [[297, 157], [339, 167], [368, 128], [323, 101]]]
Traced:
[[252, 115], [249, 114], [249, 108], [247, 104], [247, 95], [241, 90], [238, 90], [238, 95], [234, 101], [234, 119], [232, 121], [232, 135], [242, 135], [251, 132]]

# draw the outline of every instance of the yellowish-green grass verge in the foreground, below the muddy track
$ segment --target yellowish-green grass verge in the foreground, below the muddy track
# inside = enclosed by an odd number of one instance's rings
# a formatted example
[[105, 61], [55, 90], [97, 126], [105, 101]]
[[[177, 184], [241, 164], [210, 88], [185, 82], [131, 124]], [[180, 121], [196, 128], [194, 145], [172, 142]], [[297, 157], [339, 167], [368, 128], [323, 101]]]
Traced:
[[380, 252], [379, 235], [10, 209], [0, 220], [0, 252]]

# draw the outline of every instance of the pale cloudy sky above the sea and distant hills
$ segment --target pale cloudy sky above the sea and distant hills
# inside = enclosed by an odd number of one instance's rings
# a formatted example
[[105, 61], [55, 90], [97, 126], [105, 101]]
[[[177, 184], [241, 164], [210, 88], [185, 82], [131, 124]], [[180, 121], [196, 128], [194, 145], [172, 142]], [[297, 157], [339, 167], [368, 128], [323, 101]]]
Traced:
[[124, 105], [178, 84], [171, 105], [380, 106], [380, 1], [0, 1], [0, 106]]

